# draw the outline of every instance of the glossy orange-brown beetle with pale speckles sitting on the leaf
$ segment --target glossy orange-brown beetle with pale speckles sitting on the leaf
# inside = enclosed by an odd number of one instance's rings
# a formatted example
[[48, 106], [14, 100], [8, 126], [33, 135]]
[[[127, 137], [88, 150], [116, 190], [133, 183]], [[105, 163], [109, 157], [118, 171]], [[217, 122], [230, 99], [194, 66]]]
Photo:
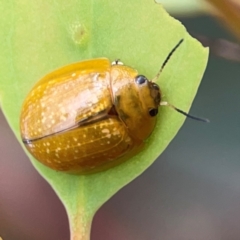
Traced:
[[102, 171], [142, 149], [154, 130], [160, 102], [159, 86], [119, 61], [71, 64], [45, 76], [27, 96], [20, 118], [22, 140], [52, 169]]

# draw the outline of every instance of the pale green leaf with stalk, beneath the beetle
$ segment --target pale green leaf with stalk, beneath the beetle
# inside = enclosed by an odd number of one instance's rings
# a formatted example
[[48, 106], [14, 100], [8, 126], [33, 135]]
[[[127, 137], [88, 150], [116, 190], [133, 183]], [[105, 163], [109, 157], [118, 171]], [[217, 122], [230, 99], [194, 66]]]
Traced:
[[[164, 100], [188, 111], [207, 63], [208, 50], [152, 0], [1, 1], [0, 100], [21, 143], [22, 102], [38, 79], [83, 59], [120, 58], [153, 78], [171, 49], [184, 38], [162, 72]], [[55, 172], [34, 160], [68, 212], [71, 239], [89, 239], [97, 209], [160, 155], [176, 135], [184, 116], [161, 107], [144, 151], [108, 171], [74, 176]], [[22, 143], [21, 143], [22, 144]], [[16, 159], [17, 161], [17, 159]]]

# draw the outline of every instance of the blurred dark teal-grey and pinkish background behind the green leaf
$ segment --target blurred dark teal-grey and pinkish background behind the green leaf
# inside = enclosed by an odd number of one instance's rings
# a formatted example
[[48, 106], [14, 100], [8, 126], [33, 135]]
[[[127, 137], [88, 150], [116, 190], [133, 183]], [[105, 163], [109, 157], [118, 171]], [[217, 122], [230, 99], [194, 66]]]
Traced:
[[[190, 33], [234, 41], [212, 18], [181, 21]], [[91, 240], [239, 240], [239, 92], [239, 63], [210, 54], [191, 113], [211, 123], [186, 120], [159, 159], [97, 212]], [[1, 112], [0, 133], [0, 236], [69, 239], [61, 202]]]

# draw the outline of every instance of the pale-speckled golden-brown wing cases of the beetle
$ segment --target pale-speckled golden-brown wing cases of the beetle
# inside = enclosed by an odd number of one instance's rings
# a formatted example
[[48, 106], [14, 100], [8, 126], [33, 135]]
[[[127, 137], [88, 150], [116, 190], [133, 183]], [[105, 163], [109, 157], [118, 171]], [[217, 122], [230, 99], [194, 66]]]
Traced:
[[[107, 113], [113, 104], [115, 108], [124, 104], [121, 84], [129, 84], [127, 76], [137, 73], [126, 66], [115, 65], [114, 72], [111, 68], [107, 59], [74, 63], [48, 74], [31, 91], [23, 106], [21, 134], [39, 139], [26, 144], [36, 159], [58, 171], [80, 173], [100, 171], [124, 154], [121, 161], [127, 160], [135, 142], [123, 123], [125, 113], [116, 109], [123, 118]], [[135, 88], [128, 86], [131, 89]]]

